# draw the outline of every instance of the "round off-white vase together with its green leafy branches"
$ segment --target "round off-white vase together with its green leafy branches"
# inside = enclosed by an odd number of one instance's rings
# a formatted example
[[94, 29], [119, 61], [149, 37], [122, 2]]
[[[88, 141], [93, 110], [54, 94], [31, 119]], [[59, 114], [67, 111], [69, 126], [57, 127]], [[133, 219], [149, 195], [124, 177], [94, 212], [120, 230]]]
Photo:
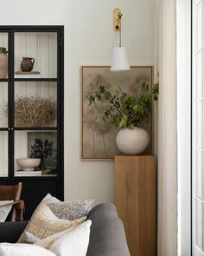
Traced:
[[121, 128], [116, 137], [118, 149], [124, 154], [140, 154], [148, 146], [149, 135], [139, 125], [151, 116], [152, 102], [157, 101], [158, 83], [152, 89], [143, 82], [138, 95], [128, 95], [119, 86], [112, 93], [103, 84], [97, 83], [97, 91], [86, 98], [89, 105], [107, 102], [103, 120]]

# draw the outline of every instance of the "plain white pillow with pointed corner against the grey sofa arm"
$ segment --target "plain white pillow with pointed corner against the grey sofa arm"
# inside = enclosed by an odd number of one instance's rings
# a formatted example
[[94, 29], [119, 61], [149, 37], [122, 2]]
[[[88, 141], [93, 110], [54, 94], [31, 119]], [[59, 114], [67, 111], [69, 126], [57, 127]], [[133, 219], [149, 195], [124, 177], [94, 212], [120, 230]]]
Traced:
[[56, 233], [39, 240], [35, 245], [42, 246], [57, 256], [86, 256], [91, 225], [92, 221], [86, 220], [72, 230]]

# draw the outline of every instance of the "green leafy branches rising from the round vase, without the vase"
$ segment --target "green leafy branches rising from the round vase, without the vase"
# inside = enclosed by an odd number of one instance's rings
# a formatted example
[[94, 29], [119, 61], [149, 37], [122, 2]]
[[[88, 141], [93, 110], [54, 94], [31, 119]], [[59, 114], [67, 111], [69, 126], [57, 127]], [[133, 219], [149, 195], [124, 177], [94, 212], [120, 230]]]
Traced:
[[119, 86], [114, 94], [103, 84], [97, 83], [97, 92], [89, 93], [86, 99], [89, 106], [97, 102], [107, 102], [103, 120], [112, 123], [117, 128], [134, 128], [150, 118], [152, 101], [158, 100], [159, 84], [154, 84], [152, 90], [143, 82], [139, 95], [128, 95]]

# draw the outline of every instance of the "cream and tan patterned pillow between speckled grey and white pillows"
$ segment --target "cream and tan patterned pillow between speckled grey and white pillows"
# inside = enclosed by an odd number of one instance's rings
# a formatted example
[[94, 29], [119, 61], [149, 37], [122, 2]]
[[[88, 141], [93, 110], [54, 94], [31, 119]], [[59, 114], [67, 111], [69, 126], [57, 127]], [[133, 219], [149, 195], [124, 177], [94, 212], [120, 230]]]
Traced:
[[54, 233], [61, 232], [70, 227], [79, 226], [86, 218], [78, 220], [60, 220], [44, 203], [41, 203], [33, 213], [29, 224], [22, 233], [18, 242], [26, 242], [25, 232], [33, 234], [39, 239], [44, 239]]

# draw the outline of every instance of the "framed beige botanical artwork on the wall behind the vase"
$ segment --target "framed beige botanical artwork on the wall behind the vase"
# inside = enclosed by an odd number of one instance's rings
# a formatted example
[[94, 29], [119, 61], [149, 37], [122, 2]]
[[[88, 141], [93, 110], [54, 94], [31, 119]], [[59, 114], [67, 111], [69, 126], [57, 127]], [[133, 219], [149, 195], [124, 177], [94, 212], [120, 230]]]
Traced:
[[[88, 105], [86, 95], [97, 90], [97, 83], [102, 83], [110, 91], [116, 86], [130, 95], [135, 95], [141, 89], [143, 82], [149, 88], [153, 85], [152, 66], [132, 66], [130, 71], [111, 72], [110, 66], [82, 66], [81, 106], [81, 159], [82, 160], [112, 160], [115, 155], [121, 154], [116, 145], [118, 128], [103, 121], [106, 102], [96, 102]], [[152, 154], [152, 118], [140, 127], [145, 128], [150, 136], [150, 143], [143, 154]]]

